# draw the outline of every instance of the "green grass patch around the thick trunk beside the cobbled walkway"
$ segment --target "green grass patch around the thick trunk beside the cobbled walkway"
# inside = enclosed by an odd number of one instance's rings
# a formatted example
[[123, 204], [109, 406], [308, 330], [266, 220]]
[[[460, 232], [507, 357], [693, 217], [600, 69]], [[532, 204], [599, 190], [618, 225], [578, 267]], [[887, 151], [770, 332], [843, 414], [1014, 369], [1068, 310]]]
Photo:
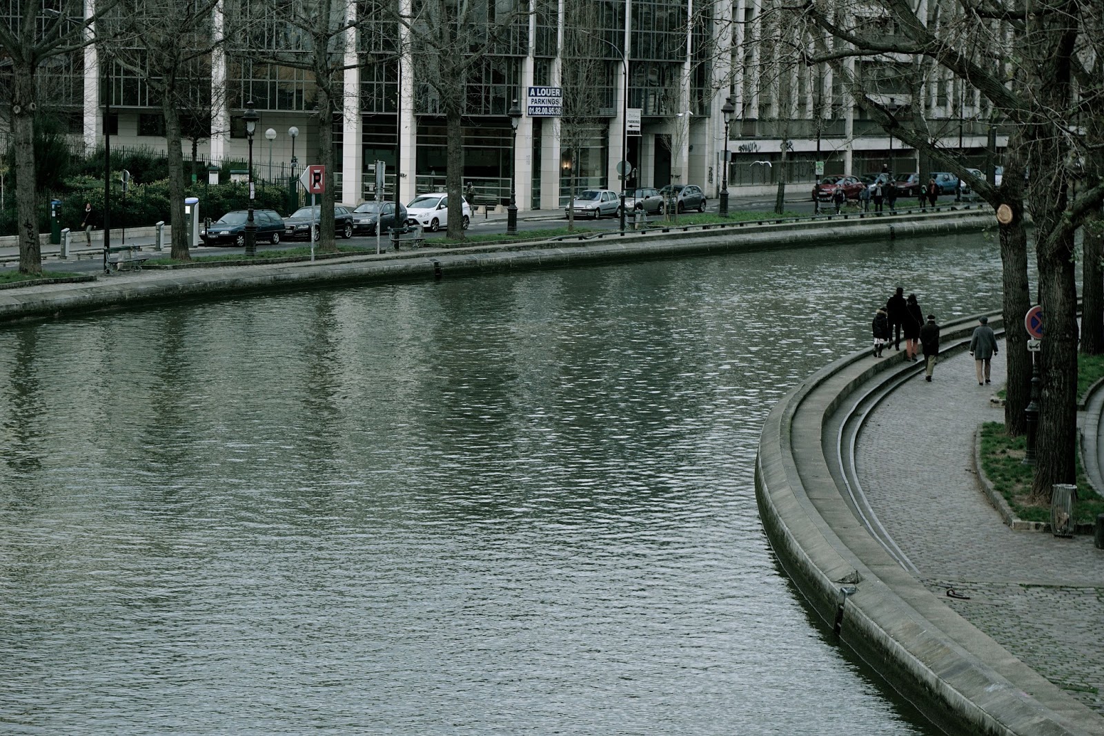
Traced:
[[[1050, 506], [1031, 502], [1034, 467], [1023, 464], [1025, 452], [1025, 438], [1008, 437], [1004, 423], [985, 422], [981, 425], [981, 472], [1018, 517], [1026, 522], [1050, 522]], [[1078, 524], [1092, 524], [1097, 514], [1104, 514], [1104, 498], [1089, 484], [1080, 452], [1076, 473], [1078, 501], [1073, 505], [1073, 518]]]

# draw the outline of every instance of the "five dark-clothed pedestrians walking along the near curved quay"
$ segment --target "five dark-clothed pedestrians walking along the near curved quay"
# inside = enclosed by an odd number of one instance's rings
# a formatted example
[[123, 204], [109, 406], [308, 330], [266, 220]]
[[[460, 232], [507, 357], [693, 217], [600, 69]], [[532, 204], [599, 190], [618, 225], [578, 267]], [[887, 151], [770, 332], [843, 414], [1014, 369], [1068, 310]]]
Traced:
[[[924, 356], [924, 380], [932, 381], [932, 374], [940, 355], [940, 326], [935, 315], [927, 315], [920, 308], [915, 294], [904, 295], [904, 287], [898, 286], [885, 306], [878, 307], [874, 313], [871, 330], [874, 337], [874, 357], [881, 358], [882, 351], [901, 349], [901, 338], [904, 337], [905, 359], [913, 362]], [[977, 372], [977, 385], [989, 382], [992, 357], [997, 355], [997, 337], [989, 327], [989, 318], [983, 316], [970, 336], [969, 354], [974, 356], [974, 368]]]

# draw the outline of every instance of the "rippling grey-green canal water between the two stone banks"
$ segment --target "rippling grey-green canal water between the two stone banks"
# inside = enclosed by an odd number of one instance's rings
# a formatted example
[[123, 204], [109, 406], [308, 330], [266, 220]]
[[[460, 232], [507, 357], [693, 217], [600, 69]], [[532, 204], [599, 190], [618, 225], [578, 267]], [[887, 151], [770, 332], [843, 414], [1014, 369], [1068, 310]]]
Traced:
[[810, 618], [753, 488], [767, 412], [899, 284], [996, 308], [998, 246], [6, 327], [0, 732], [932, 734]]

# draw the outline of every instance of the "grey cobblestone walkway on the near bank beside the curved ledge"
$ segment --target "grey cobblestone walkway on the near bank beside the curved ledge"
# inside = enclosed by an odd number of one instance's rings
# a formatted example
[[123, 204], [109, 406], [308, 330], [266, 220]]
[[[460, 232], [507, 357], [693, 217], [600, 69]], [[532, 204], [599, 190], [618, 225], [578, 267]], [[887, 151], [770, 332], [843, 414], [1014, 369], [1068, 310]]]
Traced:
[[[1104, 715], [1104, 550], [1091, 535], [1013, 532], [974, 471], [975, 431], [1004, 421], [989, 401], [1004, 382], [1001, 355], [991, 386], [977, 385], [966, 353], [941, 361], [932, 382], [914, 375], [868, 418], [856, 446], [859, 483], [933, 593]], [[968, 600], [946, 597], [947, 588]]]

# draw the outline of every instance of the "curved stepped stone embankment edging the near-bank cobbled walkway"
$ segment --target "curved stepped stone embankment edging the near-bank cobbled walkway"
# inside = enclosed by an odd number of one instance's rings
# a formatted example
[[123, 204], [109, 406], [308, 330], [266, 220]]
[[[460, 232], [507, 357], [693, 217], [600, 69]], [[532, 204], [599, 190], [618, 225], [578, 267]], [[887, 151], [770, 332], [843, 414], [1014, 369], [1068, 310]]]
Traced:
[[[990, 325], [999, 329], [999, 318]], [[941, 354], [966, 349], [975, 326], [944, 325]], [[755, 464], [771, 545], [839, 641], [947, 733], [1104, 734], [1104, 719], [932, 595], [841, 493], [826, 452], [837, 440], [826, 428], [842, 424], [834, 414], [850, 411], [851, 395], [921, 365], [872, 360], [863, 350], [817, 371], [774, 408]]]

